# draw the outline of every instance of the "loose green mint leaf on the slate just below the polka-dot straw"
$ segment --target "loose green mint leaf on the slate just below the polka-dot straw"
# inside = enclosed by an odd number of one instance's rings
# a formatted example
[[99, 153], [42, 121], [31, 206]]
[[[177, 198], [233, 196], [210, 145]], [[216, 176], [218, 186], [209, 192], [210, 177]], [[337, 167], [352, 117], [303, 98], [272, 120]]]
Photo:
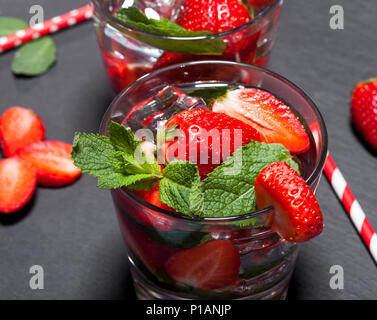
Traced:
[[16, 75], [41, 75], [54, 64], [55, 52], [55, 43], [50, 37], [25, 43], [16, 52], [11, 69]]

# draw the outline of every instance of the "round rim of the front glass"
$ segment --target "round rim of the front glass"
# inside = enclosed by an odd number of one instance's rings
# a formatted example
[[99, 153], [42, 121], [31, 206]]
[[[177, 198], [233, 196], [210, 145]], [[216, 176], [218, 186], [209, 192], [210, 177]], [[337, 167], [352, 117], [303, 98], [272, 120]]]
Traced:
[[[285, 77], [283, 77], [283, 76], [281, 76], [281, 75], [279, 75], [275, 72], [272, 72], [268, 69], [261, 68], [261, 67], [255, 66], [255, 65], [250, 65], [250, 64], [246, 64], [246, 63], [240, 63], [240, 62], [233, 62], [233, 61], [201, 60], [201, 61], [179, 63], [179, 64], [167, 66], [167, 67], [164, 67], [164, 68], [161, 68], [161, 69], [157, 69], [157, 70], [152, 71], [148, 74], [145, 74], [144, 76], [140, 77], [135, 82], [130, 84], [128, 87], [123, 89], [113, 99], [110, 106], [107, 108], [105, 114], [102, 117], [101, 124], [100, 124], [100, 130], [99, 130], [100, 134], [103, 134], [103, 135], [107, 134], [107, 132], [105, 130], [106, 130], [106, 127], [108, 126], [108, 124], [110, 122], [109, 120], [111, 118], [111, 113], [113, 111], [114, 106], [118, 103], [118, 101], [123, 96], [127, 95], [136, 86], [143, 83], [147, 79], [150, 79], [150, 78], [157, 76], [160, 73], [167, 72], [167, 71], [173, 70], [173, 69], [181, 69], [181, 68], [185, 68], [185, 67], [190, 67], [192, 65], [201, 65], [201, 64], [207, 64], [207, 65], [208, 64], [222, 64], [222, 65], [226, 64], [226, 65], [234, 65], [234, 66], [238, 66], [238, 67], [254, 69], [254, 70], [263, 72], [265, 74], [268, 74], [268, 75], [272, 76], [273, 78], [275, 78], [279, 81], [284, 82], [285, 84], [289, 85], [291, 88], [293, 88], [295, 91], [299, 92], [303, 96], [303, 98], [308, 102], [308, 104], [311, 106], [312, 110], [314, 111], [315, 115], [317, 116], [318, 122], [319, 122], [319, 125], [320, 125], [320, 131], [322, 133], [322, 148], [321, 148], [321, 151], [320, 151], [319, 161], [316, 164], [314, 170], [309, 175], [309, 177], [305, 180], [308, 185], [311, 185], [313, 182], [315, 182], [315, 180], [318, 178], [318, 176], [323, 171], [323, 167], [325, 165], [325, 161], [326, 161], [326, 157], [327, 157], [327, 151], [328, 151], [327, 129], [326, 129], [325, 121], [324, 121], [318, 107], [315, 105], [315, 103], [312, 101], [312, 99], [300, 87], [295, 85], [293, 82], [291, 82], [287, 78], [285, 78]], [[122, 188], [119, 188], [119, 190], [122, 192], [122, 194], [130, 196], [132, 199], [141, 203], [143, 206], [146, 206], [147, 208], [149, 208], [151, 210], [157, 211], [157, 212], [162, 213], [162, 214], [166, 214], [168, 216], [173, 216], [175, 218], [179, 218], [179, 219], [183, 219], [183, 220], [189, 220], [189, 221], [192, 221], [192, 222], [229, 223], [229, 222], [235, 222], [235, 221], [240, 221], [240, 220], [248, 220], [248, 219], [256, 218], [256, 217], [259, 217], [259, 216], [261, 216], [265, 213], [268, 213], [269, 211], [272, 210], [272, 207], [270, 206], [270, 207], [266, 207], [266, 208], [261, 209], [261, 210], [256, 210], [256, 211], [251, 212], [251, 213], [241, 214], [241, 215], [236, 215], [236, 216], [230, 216], [230, 217], [214, 217], [214, 218], [208, 218], [208, 217], [202, 218], [202, 217], [195, 217], [195, 216], [193, 217], [193, 216], [188, 216], [188, 215], [185, 215], [185, 214], [182, 214], [182, 213], [178, 213], [178, 212], [174, 212], [174, 211], [170, 211], [170, 210], [165, 210], [163, 208], [157, 207], [157, 206], [145, 201], [144, 199], [140, 198], [139, 196], [137, 196], [136, 194], [134, 194], [131, 190], [129, 190], [127, 188], [122, 187]]]

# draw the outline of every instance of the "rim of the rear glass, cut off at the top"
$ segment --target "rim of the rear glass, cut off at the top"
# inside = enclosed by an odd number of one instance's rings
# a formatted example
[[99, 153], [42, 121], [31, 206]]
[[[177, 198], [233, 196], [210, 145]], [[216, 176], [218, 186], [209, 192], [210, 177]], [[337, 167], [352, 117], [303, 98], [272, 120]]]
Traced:
[[131, 32], [138, 32], [140, 34], [144, 34], [144, 35], [147, 35], [147, 36], [153, 36], [153, 37], [165, 39], [165, 40], [169, 39], [169, 40], [175, 40], [175, 41], [177, 41], [177, 40], [179, 40], [179, 41], [187, 41], [187, 40], [199, 41], [199, 40], [215, 39], [215, 38], [225, 37], [225, 36], [228, 36], [232, 33], [243, 30], [243, 29], [245, 29], [245, 28], [247, 28], [251, 25], [255, 25], [261, 19], [263, 19], [265, 16], [267, 16], [273, 9], [275, 9], [278, 6], [278, 4], [280, 4], [282, 2], [283, 2], [283, 0], [274, 0], [273, 2], [268, 4], [261, 12], [259, 12], [258, 15], [256, 17], [254, 17], [254, 19], [251, 19], [249, 22], [244, 23], [237, 28], [234, 28], [234, 29], [231, 29], [231, 30], [228, 30], [228, 31], [219, 32], [219, 33], [214, 33], [214, 34], [211, 34], [211, 35], [196, 36], [196, 37], [177, 37], [177, 36], [173, 37], [173, 36], [164, 36], [164, 35], [160, 35], [160, 34], [156, 34], [156, 33], [152, 33], [152, 32], [142, 31], [142, 30], [139, 30], [137, 28], [131, 27], [131, 26], [123, 23], [122, 21], [120, 21], [119, 19], [117, 19], [113, 15], [111, 15], [111, 13], [107, 10], [101, 9], [101, 11], [104, 13], [104, 15], [107, 17], [107, 19], [109, 19], [112, 23], [119, 25], [122, 28], [128, 29]]

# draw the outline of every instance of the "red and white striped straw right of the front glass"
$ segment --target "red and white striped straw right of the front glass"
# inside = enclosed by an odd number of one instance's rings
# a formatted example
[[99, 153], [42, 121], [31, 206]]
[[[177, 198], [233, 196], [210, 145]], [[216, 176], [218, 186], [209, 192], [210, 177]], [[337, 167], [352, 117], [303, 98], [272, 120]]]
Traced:
[[330, 154], [327, 155], [324, 172], [377, 263], [377, 234]]

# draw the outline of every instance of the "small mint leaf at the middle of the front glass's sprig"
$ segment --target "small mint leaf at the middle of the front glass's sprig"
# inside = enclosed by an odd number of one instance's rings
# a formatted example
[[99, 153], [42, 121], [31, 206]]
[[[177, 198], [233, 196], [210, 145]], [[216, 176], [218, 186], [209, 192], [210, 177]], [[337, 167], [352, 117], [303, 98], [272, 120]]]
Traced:
[[188, 161], [172, 161], [163, 171], [160, 200], [189, 216], [202, 214], [203, 194], [198, 167]]

